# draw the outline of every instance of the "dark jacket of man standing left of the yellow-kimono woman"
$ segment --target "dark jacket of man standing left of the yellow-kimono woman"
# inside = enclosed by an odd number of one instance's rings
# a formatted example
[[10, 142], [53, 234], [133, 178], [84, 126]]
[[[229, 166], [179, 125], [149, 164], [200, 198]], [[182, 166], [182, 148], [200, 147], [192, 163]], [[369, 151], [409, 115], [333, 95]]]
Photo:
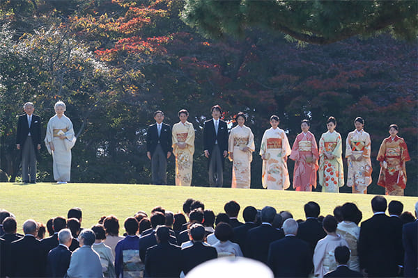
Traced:
[[160, 137], [158, 137], [157, 124], [151, 124], [148, 126], [146, 133], [146, 151], [151, 153], [151, 157], [155, 152], [155, 148], [160, 143], [162, 152], [173, 152], [173, 140], [171, 134], [171, 127], [168, 124], [162, 123]]

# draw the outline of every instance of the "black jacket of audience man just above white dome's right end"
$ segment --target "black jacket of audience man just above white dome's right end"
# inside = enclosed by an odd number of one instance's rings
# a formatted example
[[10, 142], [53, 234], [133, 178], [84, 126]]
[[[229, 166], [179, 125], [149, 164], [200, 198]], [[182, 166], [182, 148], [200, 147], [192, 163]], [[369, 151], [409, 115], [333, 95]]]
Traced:
[[268, 224], [250, 229], [247, 232], [247, 257], [267, 264], [270, 243], [281, 238], [284, 238], [283, 231]]

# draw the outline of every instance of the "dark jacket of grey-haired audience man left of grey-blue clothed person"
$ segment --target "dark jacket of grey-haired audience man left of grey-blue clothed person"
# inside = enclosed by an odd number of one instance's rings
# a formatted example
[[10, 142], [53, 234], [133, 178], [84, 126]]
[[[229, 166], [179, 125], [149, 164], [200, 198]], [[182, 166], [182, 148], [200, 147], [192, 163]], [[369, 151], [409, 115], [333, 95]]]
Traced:
[[64, 277], [70, 266], [71, 251], [58, 245], [48, 253], [47, 277]]

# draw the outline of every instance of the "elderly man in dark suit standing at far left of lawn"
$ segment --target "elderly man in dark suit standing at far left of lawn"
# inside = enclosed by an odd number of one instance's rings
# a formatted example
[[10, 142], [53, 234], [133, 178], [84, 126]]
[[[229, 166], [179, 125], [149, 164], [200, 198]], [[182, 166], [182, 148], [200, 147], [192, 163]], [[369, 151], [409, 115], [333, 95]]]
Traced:
[[36, 158], [39, 156], [40, 117], [34, 115], [35, 106], [26, 102], [23, 106], [26, 114], [21, 115], [17, 122], [16, 147], [22, 157], [22, 180], [24, 183], [36, 183]]

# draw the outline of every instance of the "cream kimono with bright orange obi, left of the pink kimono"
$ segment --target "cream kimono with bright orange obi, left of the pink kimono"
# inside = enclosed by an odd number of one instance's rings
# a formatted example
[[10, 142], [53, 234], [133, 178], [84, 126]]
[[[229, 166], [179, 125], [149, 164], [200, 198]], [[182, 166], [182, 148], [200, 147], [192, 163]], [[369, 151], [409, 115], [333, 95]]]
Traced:
[[284, 157], [291, 154], [291, 146], [283, 129], [272, 127], [264, 132], [260, 155], [263, 160], [263, 188], [284, 190], [291, 185]]

